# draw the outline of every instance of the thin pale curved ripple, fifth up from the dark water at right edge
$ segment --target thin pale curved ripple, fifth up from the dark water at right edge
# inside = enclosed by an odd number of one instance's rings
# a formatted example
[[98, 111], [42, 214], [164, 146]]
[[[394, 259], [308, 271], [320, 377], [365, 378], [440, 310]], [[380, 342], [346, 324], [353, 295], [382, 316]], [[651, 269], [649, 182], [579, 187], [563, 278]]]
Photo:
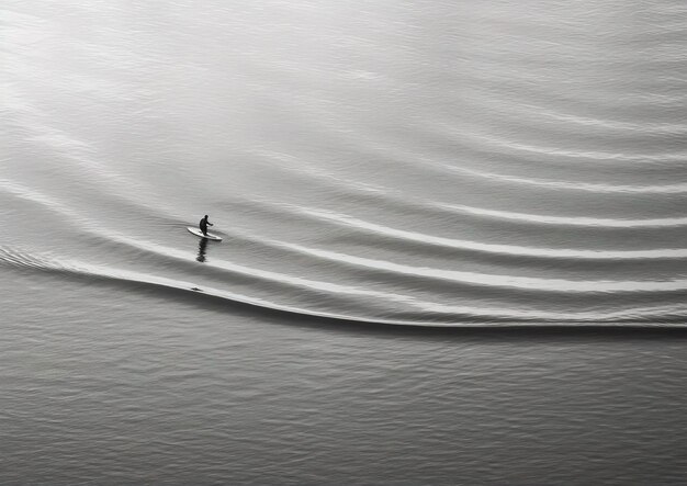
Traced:
[[517, 184], [536, 185], [540, 188], [552, 189], [565, 189], [574, 191], [589, 191], [599, 193], [645, 193], [645, 194], [683, 194], [687, 192], [687, 183], [683, 184], [666, 184], [666, 185], [611, 185], [599, 184], [593, 182], [567, 182], [567, 181], [552, 181], [547, 179], [527, 179], [517, 176], [506, 176], [496, 172], [485, 172], [481, 170], [466, 169], [464, 167], [457, 167], [449, 163], [438, 162], [435, 160], [420, 158], [424, 163], [435, 166], [442, 170], [450, 172], [459, 172], [468, 176], [477, 177], [480, 179], [498, 180], [505, 182], [515, 182]]

